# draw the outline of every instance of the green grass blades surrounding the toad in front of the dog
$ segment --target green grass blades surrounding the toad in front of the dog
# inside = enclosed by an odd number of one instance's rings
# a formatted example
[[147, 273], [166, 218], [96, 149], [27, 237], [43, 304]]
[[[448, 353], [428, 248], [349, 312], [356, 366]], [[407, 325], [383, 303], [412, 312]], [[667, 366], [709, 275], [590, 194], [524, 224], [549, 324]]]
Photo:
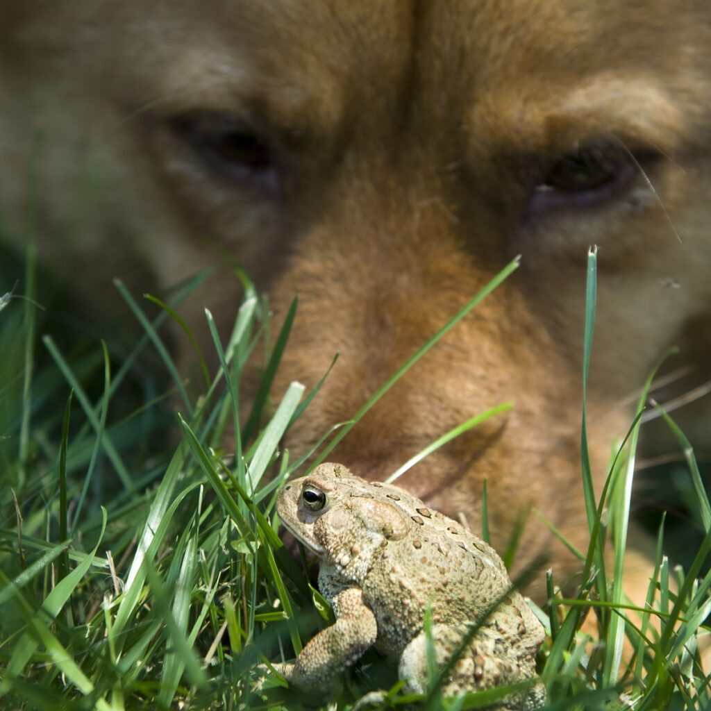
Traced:
[[[592, 252], [586, 378], [596, 263]], [[412, 702], [462, 710], [501, 697], [500, 690], [486, 690], [441, 699], [434, 680], [425, 697], [408, 698], [375, 652], [317, 695], [286, 688], [265, 669], [270, 661], [293, 658], [332, 621], [311, 587], [309, 564], [295, 562], [279, 539], [279, 487], [294, 472], [300, 476], [323, 461], [395, 380], [516, 266], [509, 264], [426, 341], [351, 421], [325, 432], [308, 464], [306, 458], [292, 460], [280, 442], [320, 384], [307, 393], [292, 383], [277, 401], [269, 397], [296, 303], [270, 348], [269, 315], [244, 275], [245, 298], [225, 341], [206, 314], [220, 367], [208, 373], [209, 359], [197, 354], [204, 380], [199, 397], [181, 382], [160, 326], [179, 319], [181, 299], [202, 277], [167, 303], [152, 299], [161, 307], [154, 317], [117, 285], [145, 333], [122, 363], [112, 360], [105, 345], [67, 355], [51, 338], [38, 343], [33, 301], [0, 301], [0, 708], [346, 711], [363, 693], [387, 689], [383, 708]], [[139, 407], [125, 405], [131, 365], [149, 343], [171, 377], [167, 392], [179, 403], [178, 417], [165, 414], [166, 396], [156, 395], [155, 387]], [[252, 409], [245, 410], [245, 364], [260, 351], [261, 385]], [[563, 597], [555, 570], [548, 572], [549, 604], [537, 611], [549, 631], [539, 666], [550, 710], [711, 707], [710, 680], [700, 671], [697, 651], [711, 610], [711, 574], [703, 567], [711, 547], [711, 508], [693, 449], [668, 416], [706, 535], [683, 572], [663, 553], [662, 522], [645, 609], [631, 609], [619, 584], [646, 399], [645, 392], [602, 492], [592, 486], [583, 411], [581, 486], [590, 545], [579, 552], [582, 585], [574, 597]], [[421, 456], [507, 407], [471, 418]], [[166, 432], [175, 434], [173, 444], [166, 444]], [[232, 453], [224, 449], [228, 440]], [[486, 511], [486, 492], [483, 506]], [[483, 525], [486, 534], [486, 515]], [[515, 542], [507, 560], [514, 552]], [[546, 575], [535, 567], [529, 574]], [[591, 606], [597, 628], [589, 636], [579, 628]], [[625, 642], [634, 650], [630, 658], [622, 653]]]

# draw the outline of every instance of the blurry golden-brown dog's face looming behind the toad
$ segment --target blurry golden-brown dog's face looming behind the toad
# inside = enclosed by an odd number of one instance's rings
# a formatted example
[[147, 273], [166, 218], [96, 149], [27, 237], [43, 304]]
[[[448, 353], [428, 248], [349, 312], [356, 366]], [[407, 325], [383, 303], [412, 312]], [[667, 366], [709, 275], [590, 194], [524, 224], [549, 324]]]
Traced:
[[[104, 314], [111, 277], [155, 291], [220, 261], [242, 264], [277, 318], [298, 295], [275, 395], [341, 358], [293, 452], [352, 417], [516, 255], [332, 459], [383, 479], [511, 401], [399, 483], [478, 530], [486, 481], [499, 550], [533, 509], [584, 550], [590, 245], [598, 494], [628, 396], [661, 353], [679, 346], [675, 363], [705, 382], [707, 1], [27, 0], [2, 13], [4, 232], [23, 234], [36, 185], [41, 257]], [[225, 329], [239, 298], [223, 269], [181, 313], [199, 331], [209, 306]], [[707, 442], [705, 401], [687, 410]], [[626, 569], [637, 600], [643, 547]], [[519, 567], [541, 552], [561, 584], [579, 568], [530, 517]]]

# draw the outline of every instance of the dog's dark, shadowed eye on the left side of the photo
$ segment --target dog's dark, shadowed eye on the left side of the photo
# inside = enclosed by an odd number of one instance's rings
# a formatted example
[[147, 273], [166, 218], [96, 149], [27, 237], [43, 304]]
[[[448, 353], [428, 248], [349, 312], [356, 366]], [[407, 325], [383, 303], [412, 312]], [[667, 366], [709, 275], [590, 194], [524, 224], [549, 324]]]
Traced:
[[271, 146], [240, 119], [201, 112], [177, 117], [171, 127], [220, 178], [272, 192], [279, 189]]

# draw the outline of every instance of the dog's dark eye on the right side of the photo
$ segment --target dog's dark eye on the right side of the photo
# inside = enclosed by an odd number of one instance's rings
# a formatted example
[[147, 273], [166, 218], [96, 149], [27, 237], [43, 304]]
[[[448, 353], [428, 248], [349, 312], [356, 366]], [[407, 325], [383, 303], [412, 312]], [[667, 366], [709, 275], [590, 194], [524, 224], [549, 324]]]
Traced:
[[536, 186], [531, 208], [540, 213], [555, 207], [597, 205], [629, 188], [638, 159], [619, 139], [598, 139], [553, 164]]

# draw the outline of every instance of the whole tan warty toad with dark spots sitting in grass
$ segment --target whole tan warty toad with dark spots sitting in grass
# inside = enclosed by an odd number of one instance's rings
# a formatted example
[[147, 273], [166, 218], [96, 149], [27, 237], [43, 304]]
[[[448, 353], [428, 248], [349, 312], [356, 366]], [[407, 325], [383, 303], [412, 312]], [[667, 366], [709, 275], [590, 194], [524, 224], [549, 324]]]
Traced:
[[[290, 683], [322, 687], [374, 646], [397, 665], [407, 691], [426, 693], [428, 608], [438, 670], [461, 651], [443, 680], [444, 695], [535, 676], [543, 626], [496, 551], [460, 523], [339, 464], [289, 481], [277, 511], [319, 557], [319, 588], [336, 616], [295, 663], [277, 665]], [[532, 709], [543, 699], [537, 684], [498, 708]]]

